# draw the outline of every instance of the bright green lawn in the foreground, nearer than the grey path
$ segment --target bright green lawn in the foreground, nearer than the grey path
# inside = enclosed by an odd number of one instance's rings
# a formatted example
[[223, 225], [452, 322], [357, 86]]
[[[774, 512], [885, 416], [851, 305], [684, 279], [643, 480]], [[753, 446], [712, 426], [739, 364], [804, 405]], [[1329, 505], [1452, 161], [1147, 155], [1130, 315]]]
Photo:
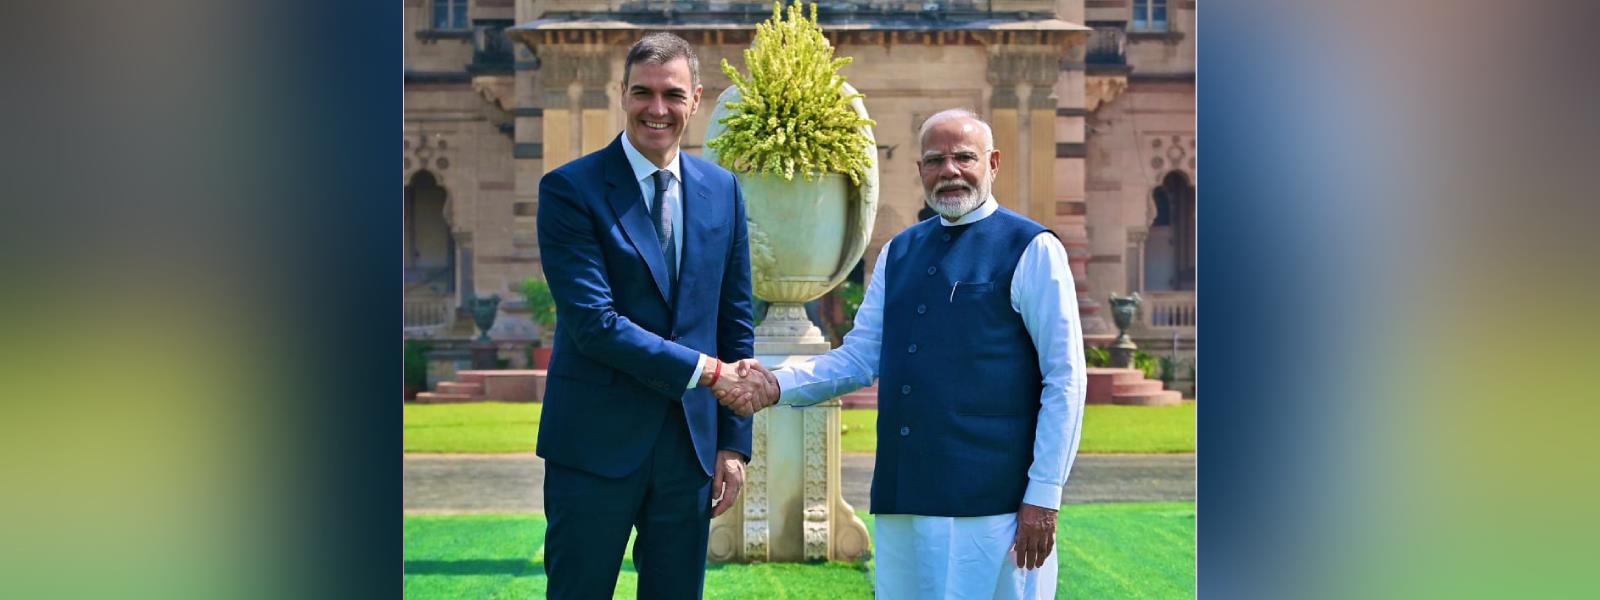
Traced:
[[[1058, 539], [1058, 598], [1194, 597], [1194, 502], [1067, 506]], [[405, 597], [542, 598], [542, 552], [538, 514], [405, 517]], [[616, 597], [637, 584], [624, 558]], [[706, 597], [870, 598], [872, 563], [710, 565]]]

